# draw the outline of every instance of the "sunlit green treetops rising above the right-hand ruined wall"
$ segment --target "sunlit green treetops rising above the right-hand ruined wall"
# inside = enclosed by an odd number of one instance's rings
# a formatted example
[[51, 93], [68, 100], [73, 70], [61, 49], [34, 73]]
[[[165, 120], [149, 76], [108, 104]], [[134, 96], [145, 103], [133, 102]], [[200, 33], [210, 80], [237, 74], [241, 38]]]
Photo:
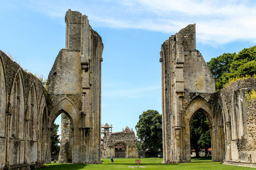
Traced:
[[244, 48], [239, 53], [223, 53], [212, 58], [207, 65], [216, 81], [216, 90], [222, 89], [232, 78], [256, 74], [256, 46]]

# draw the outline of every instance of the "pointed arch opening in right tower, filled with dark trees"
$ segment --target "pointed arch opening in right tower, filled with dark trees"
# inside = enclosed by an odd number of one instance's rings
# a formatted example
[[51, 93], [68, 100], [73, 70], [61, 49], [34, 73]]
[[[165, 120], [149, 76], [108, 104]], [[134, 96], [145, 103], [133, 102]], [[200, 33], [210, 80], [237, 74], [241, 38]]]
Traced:
[[195, 111], [190, 119], [191, 157], [209, 157], [211, 155], [212, 128], [208, 113], [202, 109]]

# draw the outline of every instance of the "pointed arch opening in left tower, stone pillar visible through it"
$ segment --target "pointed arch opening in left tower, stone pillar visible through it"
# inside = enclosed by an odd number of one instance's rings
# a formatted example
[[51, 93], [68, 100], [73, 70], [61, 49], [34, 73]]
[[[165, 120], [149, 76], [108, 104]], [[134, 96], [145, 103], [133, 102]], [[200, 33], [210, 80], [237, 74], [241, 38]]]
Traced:
[[[58, 121], [56, 121], [58, 120]], [[58, 125], [58, 126], [56, 126]], [[59, 127], [59, 128], [58, 128]], [[60, 131], [60, 148], [56, 149], [56, 128]], [[73, 157], [73, 122], [70, 115], [60, 110], [56, 113], [51, 122], [52, 136], [51, 136], [51, 154], [52, 160], [58, 160], [59, 163], [72, 163]], [[58, 132], [57, 130], [57, 132]], [[55, 133], [55, 134], [54, 134]], [[54, 142], [54, 143], [53, 143]], [[58, 151], [57, 151], [58, 150]]]

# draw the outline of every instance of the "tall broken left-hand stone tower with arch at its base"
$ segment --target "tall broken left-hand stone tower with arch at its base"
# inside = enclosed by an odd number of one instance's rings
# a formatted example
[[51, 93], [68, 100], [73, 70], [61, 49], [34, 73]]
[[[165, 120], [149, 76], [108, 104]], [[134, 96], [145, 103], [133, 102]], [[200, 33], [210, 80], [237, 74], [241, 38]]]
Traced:
[[65, 22], [66, 48], [48, 78], [49, 119], [53, 124], [63, 114], [70, 120], [73, 163], [99, 164], [102, 39], [78, 11], [68, 10]]

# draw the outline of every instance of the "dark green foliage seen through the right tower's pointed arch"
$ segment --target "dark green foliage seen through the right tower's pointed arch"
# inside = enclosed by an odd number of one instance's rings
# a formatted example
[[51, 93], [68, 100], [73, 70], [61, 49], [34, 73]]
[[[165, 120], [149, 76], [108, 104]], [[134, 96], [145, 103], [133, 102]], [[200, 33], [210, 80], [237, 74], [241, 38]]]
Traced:
[[196, 152], [196, 157], [199, 157], [202, 149], [205, 149], [207, 156], [207, 150], [211, 148], [209, 122], [202, 111], [195, 113], [191, 119], [190, 143], [191, 149]]

